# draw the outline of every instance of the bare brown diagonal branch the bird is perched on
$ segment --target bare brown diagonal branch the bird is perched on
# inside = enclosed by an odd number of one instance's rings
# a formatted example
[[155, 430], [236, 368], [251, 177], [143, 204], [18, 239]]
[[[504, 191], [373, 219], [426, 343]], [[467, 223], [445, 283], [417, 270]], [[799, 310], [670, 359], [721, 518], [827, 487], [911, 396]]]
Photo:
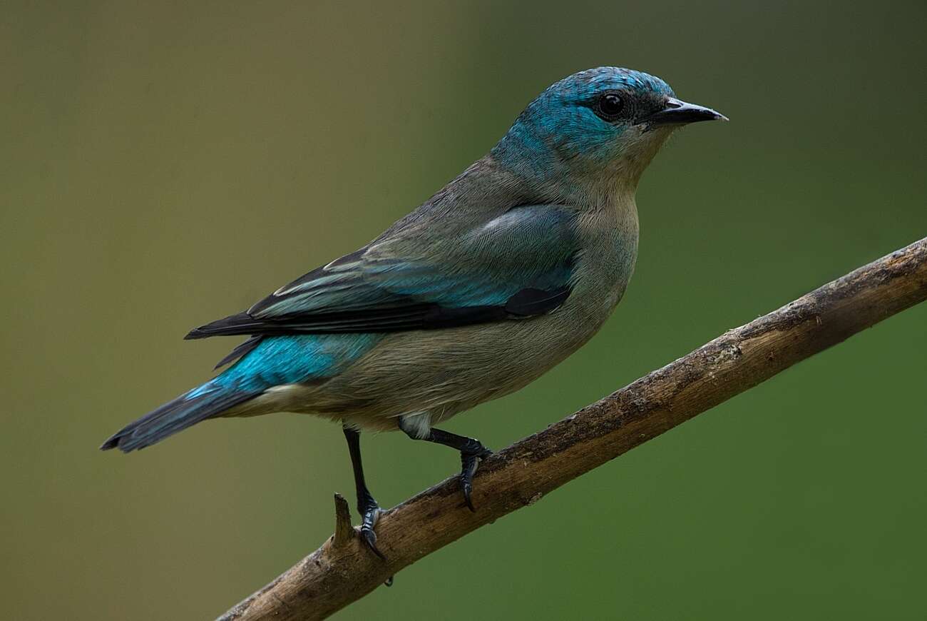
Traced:
[[346, 531], [347, 503], [337, 497], [336, 535], [220, 619], [331, 615], [451, 541], [925, 298], [927, 238], [729, 330], [486, 459], [476, 473], [476, 513], [464, 506], [456, 477], [386, 511], [376, 525], [386, 562]]

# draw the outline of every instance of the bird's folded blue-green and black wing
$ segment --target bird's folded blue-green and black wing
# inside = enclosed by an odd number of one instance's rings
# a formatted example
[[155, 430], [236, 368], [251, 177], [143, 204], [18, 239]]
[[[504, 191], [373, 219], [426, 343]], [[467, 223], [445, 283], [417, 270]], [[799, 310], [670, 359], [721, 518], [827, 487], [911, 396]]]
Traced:
[[375, 239], [186, 338], [449, 328], [533, 317], [570, 294], [578, 242], [565, 207], [516, 207], [452, 234], [414, 228]]

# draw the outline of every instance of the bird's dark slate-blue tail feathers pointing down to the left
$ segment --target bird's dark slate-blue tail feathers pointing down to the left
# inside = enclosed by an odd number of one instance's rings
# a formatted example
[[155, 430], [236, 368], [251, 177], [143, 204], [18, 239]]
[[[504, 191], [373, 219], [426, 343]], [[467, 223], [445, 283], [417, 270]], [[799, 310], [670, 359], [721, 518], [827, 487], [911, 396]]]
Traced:
[[[217, 378], [218, 379], [218, 378]], [[160, 442], [169, 435], [222, 414], [228, 408], [248, 401], [260, 391], [242, 390], [228, 382], [206, 382], [160, 408], [148, 412], [114, 433], [101, 450], [119, 448], [122, 452], [145, 448]]]

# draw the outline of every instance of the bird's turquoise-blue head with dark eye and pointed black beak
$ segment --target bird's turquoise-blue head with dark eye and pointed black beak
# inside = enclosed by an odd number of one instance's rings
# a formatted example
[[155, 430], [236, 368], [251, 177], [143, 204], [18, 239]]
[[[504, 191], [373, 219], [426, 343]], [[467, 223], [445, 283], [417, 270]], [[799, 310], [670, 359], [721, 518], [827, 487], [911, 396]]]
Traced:
[[636, 188], [672, 131], [724, 115], [680, 101], [641, 71], [600, 67], [552, 84], [492, 149], [503, 166], [540, 184], [618, 182]]

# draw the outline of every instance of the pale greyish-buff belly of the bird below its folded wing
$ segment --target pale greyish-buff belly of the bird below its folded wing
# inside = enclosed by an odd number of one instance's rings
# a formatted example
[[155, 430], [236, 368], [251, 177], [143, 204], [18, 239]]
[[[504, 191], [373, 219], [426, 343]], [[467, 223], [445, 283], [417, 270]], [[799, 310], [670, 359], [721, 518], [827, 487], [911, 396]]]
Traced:
[[337, 377], [294, 386], [287, 409], [362, 429], [393, 430], [403, 416], [437, 424], [533, 382], [586, 343], [607, 315], [565, 304], [543, 317], [391, 334]]

